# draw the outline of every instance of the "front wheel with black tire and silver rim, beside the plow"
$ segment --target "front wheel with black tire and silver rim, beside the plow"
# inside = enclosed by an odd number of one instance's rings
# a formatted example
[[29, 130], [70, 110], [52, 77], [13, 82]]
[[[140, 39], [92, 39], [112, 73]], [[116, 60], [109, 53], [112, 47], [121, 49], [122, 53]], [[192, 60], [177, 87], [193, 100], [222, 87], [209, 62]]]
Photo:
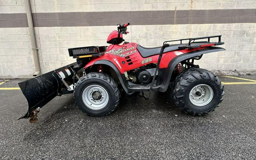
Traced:
[[104, 73], [91, 72], [79, 79], [74, 89], [77, 106], [90, 116], [104, 116], [119, 104], [120, 92], [115, 80]]

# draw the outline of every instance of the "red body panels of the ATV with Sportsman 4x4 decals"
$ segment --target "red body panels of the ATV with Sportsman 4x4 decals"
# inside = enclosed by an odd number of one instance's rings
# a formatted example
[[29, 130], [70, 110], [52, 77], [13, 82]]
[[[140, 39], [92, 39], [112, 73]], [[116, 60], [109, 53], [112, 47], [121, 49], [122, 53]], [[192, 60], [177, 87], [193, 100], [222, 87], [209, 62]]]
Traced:
[[[166, 68], [170, 61], [177, 55], [192, 52], [194, 50], [204, 49], [180, 49], [171, 52], [163, 53], [160, 68]], [[157, 63], [159, 55], [143, 58], [137, 50], [136, 43], [128, 43], [123, 45], [110, 45], [104, 55], [93, 58], [90, 63], [86, 64], [85, 68], [92, 66], [98, 60], [108, 60], [115, 64], [119, 71], [123, 74], [125, 71], [144, 66], [150, 63]]]

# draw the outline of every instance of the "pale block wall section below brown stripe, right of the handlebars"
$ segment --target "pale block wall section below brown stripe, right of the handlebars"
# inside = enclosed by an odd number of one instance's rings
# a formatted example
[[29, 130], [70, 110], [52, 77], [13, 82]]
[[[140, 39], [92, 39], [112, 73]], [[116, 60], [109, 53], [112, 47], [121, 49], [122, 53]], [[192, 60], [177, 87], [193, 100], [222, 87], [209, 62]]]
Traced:
[[[131, 26], [132, 40], [143, 46], [155, 47], [169, 39], [222, 35], [225, 51], [203, 55], [195, 61], [208, 70], [256, 70], [256, 24], [182, 24]], [[215, 39], [217, 41], [217, 39]], [[156, 45], [157, 44], [157, 45]]]

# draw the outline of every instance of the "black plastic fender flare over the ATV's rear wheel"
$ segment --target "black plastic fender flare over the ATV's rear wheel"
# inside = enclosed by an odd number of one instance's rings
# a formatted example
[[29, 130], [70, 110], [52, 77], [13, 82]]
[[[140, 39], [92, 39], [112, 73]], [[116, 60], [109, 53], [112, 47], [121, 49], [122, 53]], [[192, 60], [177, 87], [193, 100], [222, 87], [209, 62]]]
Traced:
[[[167, 68], [163, 68], [163, 69], [159, 70], [158, 77], [160, 77], [160, 78], [157, 83], [158, 85], [160, 85], [159, 91], [165, 92], [168, 89], [168, 85], [170, 83], [173, 70], [174, 70], [176, 64], [178, 64], [179, 62], [186, 60], [188, 58], [192, 58], [194, 56], [203, 55], [203, 54], [211, 53], [211, 52], [223, 51], [223, 50], [226, 50], [226, 49], [223, 49], [221, 47], [206, 47], [205, 49], [195, 50], [192, 52], [188, 52], [188, 53], [176, 56], [169, 62]], [[168, 75], [168, 76], [163, 77], [165, 75]]]

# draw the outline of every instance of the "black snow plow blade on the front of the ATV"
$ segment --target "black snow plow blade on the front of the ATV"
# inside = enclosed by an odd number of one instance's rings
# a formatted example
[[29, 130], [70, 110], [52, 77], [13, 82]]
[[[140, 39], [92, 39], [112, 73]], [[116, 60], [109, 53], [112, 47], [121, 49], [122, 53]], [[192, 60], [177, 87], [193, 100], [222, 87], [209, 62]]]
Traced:
[[[77, 65], [76, 62], [18, 83], [28, 101], [28, 111], [19, 119], [31, 118], [37, 121], [36, 114], [40, 108], [54, 97], [61, 96], [63, 90], [67, 90], [67, 84], [72, 84], [75, 65]], [[66, 83], [66, 86], [64, 83]]]

